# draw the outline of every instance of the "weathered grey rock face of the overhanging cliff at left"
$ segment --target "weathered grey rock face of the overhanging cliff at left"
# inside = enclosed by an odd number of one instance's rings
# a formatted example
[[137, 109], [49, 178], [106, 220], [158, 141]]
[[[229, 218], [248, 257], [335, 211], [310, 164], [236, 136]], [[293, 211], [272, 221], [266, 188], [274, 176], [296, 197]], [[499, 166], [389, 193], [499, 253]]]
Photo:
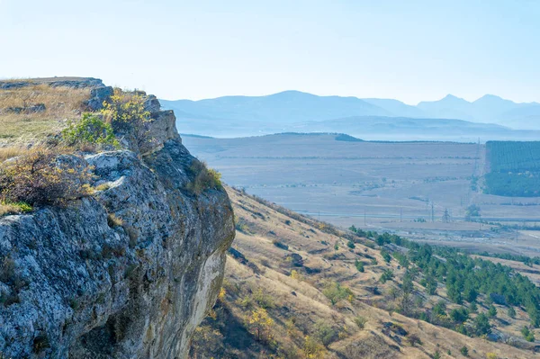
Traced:
[[220, 292], [233, 215], [224, 190], [187, 190], [197, 160], [172, 112], [148, 106], [152, 148], [84, 157], [93, 196], [0, 219], [0, 357], [186, 356]]

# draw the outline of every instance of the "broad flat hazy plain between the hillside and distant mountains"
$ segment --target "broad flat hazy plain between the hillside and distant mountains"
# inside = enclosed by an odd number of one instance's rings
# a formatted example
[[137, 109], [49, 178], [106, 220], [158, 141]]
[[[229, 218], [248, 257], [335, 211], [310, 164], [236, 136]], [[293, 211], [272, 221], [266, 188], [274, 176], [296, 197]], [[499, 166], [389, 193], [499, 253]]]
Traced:
[[[491, 222], [540, 224], [540, 198], [472, 188], [472, 176], [482, 176], [483, 145], [346, 142], [329, 134], [183, 139], [226, 183], [340, 227], [354, 224], [472, 250], [540, 255], [540, 238], [464, 221], [474, 203]], [[448, 223], [442, 220], [445, 210]]]

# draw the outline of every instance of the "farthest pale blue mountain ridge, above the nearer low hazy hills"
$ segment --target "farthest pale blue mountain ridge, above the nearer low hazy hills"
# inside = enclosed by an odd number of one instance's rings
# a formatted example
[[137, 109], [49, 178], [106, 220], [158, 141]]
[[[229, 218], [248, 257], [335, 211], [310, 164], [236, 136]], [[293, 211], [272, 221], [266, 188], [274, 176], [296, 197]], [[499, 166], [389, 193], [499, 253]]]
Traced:
[[515, 103], [493, 94], [468, 102], [448, 94], [413, 106], [394, 99], [319, 96], [284, 91], [265, 96], [223, 96], [199, 101], [160, 100], [176, 117], [219, 121], [256, 121], [290, 125], [358, 116], [456, 119], [540, 130], [540, 103]]

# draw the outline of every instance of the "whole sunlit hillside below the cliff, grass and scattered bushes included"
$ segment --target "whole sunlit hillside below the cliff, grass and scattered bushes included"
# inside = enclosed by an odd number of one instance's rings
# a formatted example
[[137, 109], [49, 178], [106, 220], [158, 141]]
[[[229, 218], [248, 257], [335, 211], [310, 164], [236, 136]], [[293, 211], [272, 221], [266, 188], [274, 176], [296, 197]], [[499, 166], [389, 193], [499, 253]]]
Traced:
[[[535, 356], [534, 345], [523, 340], [507, 340], [518, 348], [409, 318], [413, 312], [432, 312], [439, 301], [448, 312], [460, 307], [448, 301], [440, 283], [437, 295], [428, 295], [421, 274], [413, 284], [415, 309], [409, 317], [398, 313], [403, 312], [399, 292], [407, 270], [395, 257], [406, 248], [384, 245], [394, 256], [386, 263], [382, 247], [372, 240], [246, 193], [228, 192], [237, 237], [229, 251], [224, 291], [193, 337], [192, 358], [450, 358], [464, 357], [464, 347], [472, 358]], [[359, 262], [364, 272], [357, 269]], [[394, 277], [382, 283], [387, 270]], [[479, 312], [487, 310], [478, 301]], [[495, 306], [499, 314], [490, 319], [493, 333], [519, 337], [527, 314], [517, 310], [516, 319], [510, 319], [502, 306]], [[271, 320], [265, 320], [265, 313]]]

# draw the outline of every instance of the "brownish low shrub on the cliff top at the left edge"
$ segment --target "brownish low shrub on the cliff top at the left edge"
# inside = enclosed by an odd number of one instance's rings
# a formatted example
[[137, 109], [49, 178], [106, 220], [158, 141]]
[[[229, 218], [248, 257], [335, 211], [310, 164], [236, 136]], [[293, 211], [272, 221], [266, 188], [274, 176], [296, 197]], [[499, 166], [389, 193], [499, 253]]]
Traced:
[[[73, 162], [73, 161], [72, 161]], [[0, 201], [64, 204], [91, 193], [90, 168], [67, 163], [61, 155], [43, 148], [28, 152], [0, 167]]]

